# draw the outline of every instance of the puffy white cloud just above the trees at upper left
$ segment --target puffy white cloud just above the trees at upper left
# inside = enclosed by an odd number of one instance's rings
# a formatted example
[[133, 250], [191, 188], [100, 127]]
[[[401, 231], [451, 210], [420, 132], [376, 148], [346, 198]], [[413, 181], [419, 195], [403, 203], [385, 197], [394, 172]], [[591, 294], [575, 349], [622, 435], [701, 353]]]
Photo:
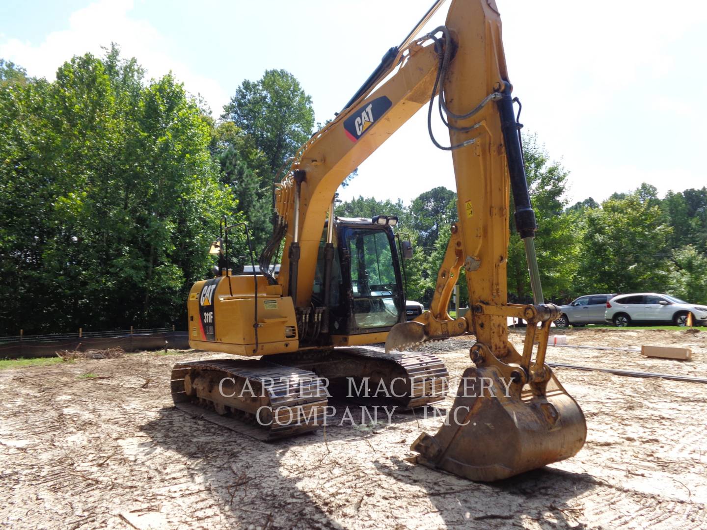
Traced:
[[101, 47], [111, 42], [120, 46], [123, 57], [136, 57], [148, 77], [159, 78], [172, 70], [186, 90], [200, 93], [214, 110], [228, 101], [226, 90], [213, 78], [194, 73], [170, 54], [170, 41], [148, 20], [130, 16], [132, 0], [102, 0], [74, 11], [69, 29], [49, 33], [43, 42], [9, 38], [0, 43], [0, 57], [24, 66], [31, 76], [53, 79], [57, 68], [74, 55], [86, 52], [102, 55]]

